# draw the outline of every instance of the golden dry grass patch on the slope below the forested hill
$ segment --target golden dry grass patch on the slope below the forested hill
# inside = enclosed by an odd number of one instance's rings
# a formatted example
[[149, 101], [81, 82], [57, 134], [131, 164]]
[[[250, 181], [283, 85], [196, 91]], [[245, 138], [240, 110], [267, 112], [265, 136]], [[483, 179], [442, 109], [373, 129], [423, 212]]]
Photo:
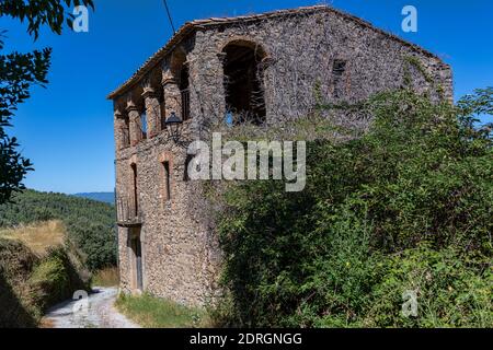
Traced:
[[50, 247], [62, 245], [65, 236], [65, 225], [58, 220], [0, 230], [0, 237], [20, 241], [37, 256], [44, 256]]

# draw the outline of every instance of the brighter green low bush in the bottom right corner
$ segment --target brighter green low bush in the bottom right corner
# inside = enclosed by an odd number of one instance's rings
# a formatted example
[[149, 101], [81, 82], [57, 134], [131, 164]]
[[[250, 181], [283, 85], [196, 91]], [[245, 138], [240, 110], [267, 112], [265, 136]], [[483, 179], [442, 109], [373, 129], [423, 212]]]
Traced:
[[[368, 326], [492, 327], [493, 270], [454, 247], [431, 249], [426, 244], [386, 257], [378, 266], [379, 283], [365, 315]], [[402, 291], [417, 293], [417, 317], [401, 313]]]

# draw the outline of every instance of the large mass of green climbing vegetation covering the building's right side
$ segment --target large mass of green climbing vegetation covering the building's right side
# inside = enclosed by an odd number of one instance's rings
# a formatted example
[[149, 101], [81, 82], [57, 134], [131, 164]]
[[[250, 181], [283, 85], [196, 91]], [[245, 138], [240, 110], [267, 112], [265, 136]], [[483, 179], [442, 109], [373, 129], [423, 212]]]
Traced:
[[[222, 326], [492, 327], [493, 89], [352, 106], [365, 136], [308, 144], [307, 187], [241, 182], [220, 202]], [[351, 133], [351, 130], [347, 130]], [[351, 139], [347, 138], [347, 139]], [[220, 198], [220, 197], [219, 197]], [[402, 294], [419, 314], [402, 314]]]

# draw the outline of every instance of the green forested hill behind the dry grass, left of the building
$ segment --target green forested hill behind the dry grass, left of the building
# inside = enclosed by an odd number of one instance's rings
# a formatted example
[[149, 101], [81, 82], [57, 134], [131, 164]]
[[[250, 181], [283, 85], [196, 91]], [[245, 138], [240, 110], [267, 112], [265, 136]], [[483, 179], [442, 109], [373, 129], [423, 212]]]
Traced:
[[91, 270], [116, 264], [115, 211], [104, 202], [24, 190], [0, 206], [0, 228], [61, 220]]

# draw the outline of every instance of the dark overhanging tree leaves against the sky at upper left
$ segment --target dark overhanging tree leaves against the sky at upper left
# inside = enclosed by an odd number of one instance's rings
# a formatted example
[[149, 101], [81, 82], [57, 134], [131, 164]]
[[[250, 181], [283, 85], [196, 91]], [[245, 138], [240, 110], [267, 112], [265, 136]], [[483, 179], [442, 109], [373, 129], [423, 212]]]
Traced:
[[[44, 25], [61, 34], [64, 22], [67, 20], [70, 25], [73, 19], [66, 12], [72, 4], [93, 8], [92, 0], [3, 0], [0, 2], [0, 16], [26, 22], [28, 34], [36, 39]], [[0, 32], [0, 50], [3, 49], [5, 33]], [[33, 170], [31, 161], [20, 154], [16, 139], [9, 137], [5, 128], [11, 127], [11, 118], [19, 104], [30, 97], [30, 89], [48, 82], [50, 57], [50, 48], [0, 55], [0, 203], [8, 201], [13, 191], [24, 188], [22, 179]]]

